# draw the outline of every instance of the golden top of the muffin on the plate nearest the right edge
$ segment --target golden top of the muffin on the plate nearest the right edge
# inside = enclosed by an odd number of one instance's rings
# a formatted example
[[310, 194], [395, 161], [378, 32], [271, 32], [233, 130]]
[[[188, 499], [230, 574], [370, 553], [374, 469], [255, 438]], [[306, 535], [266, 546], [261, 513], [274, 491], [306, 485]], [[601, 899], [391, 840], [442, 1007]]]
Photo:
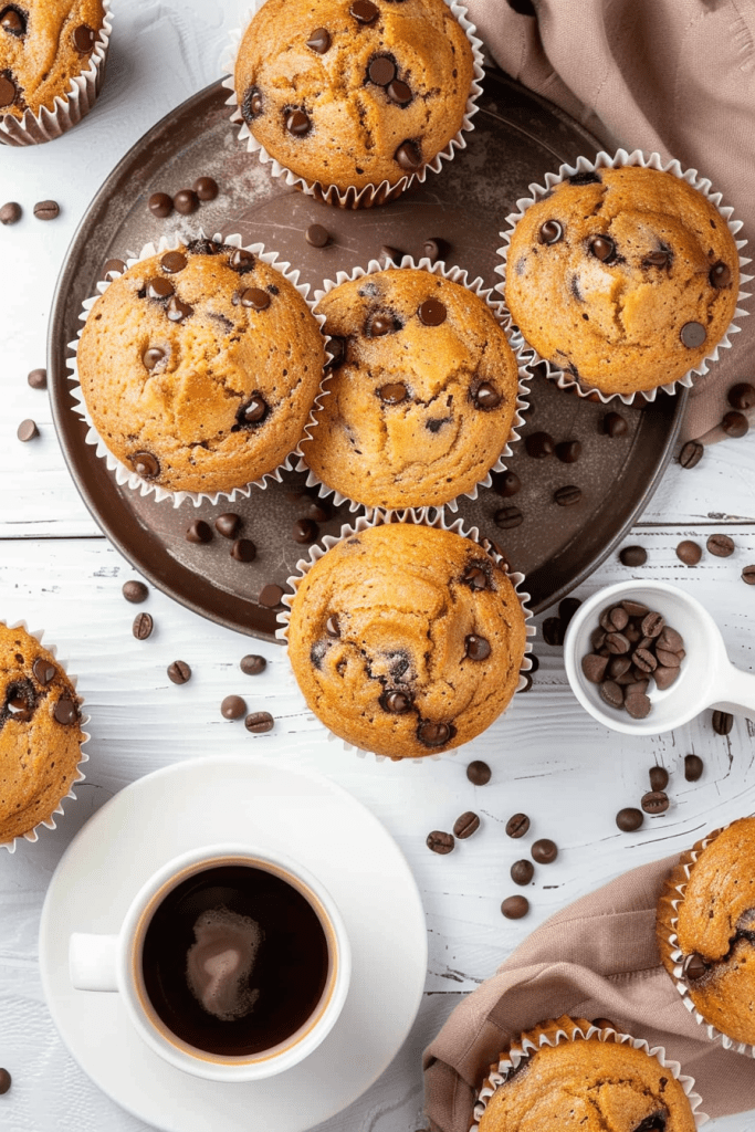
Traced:
[[636, 393], [696, 368], [737, 306], [726, 220], [671, 173], [578, 173], [526, 209], [506, 301], [526, 342], [584, 387]]

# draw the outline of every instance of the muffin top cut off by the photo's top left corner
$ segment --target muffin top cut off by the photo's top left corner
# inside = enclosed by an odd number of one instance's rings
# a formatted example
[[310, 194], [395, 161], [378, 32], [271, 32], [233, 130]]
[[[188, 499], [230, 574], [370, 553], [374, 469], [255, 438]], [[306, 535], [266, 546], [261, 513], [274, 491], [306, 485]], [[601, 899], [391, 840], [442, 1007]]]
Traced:
[[89, 66], [103, 16], [101, 0], [0, 0], [0, 114], [53, 110]]

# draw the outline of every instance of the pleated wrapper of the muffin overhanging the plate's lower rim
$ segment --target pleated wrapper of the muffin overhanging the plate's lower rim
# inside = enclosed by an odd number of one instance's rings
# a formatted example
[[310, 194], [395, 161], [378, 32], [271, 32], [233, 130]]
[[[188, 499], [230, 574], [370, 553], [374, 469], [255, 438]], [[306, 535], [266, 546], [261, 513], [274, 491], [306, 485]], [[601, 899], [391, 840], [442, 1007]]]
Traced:
[[[432, 508], [429, 508], [432, 509]], [[278, 614], [278, 620], [283, 621], [283, 625], [276, 629], [275, 636], [278, 641], [285, 641], [286, 653], [288, 653], [288, 642], [289, 642], [289, 626], [291, 623], [291, 607], [295, 598], [295, 591], [303, 582], [307, 574], [310, 572], [315, 563], [319, 561], [328, 550], [335, 547], [338, 542], [343, 542], [344, 539], [350, 539], [352, 534], [359, 534], [372, 526], [383, 526], [391, 523], [414, 523], [420, 526], [432, 526], [441, 531], [452, 531], [454, 534], [460, 534], [462, 538], [470, 539], [472, 542], [477, 542], [480, 549], [487, 554], [492, 560], [506, 571], [506, 576], [514, 586], [516, 597], [520, 599], [522, 610], [524, 612], [525, 619], [525, 633], [527, 641], [524, 645], [524, 657], [522, 658], [522, 664], [520, 667], [520, 680], [516, 686], [516, 692], [521, 692], [523, 688], [529, 686], [529, 680], [523, 672], [527, 672], [532, 668], [532, 661], [530, 660], [530, 653], [532, 652], [532, 643], [529, 637], [535, 635], [535, 627], [532, 625], [532, 611], [529, 607], [530, 594], [524, 591], [520, 591], [520, 586], [524, 582], [524, 574], [511, 573], [507, 568], [507, 564], [501, 556], [501, 554], [496, 548], [495, 543], [490, 539], [480, 538], [480, 532], [477, 526], [464, 526], [464, 521], [462, 518], [455, 520], [453, 523], [448, 522], [446, 516], [441, 511], [438, 511], [435, 517], [430, 518], [426, 514], [428, 508], [406, 508], [404, 511], [393, 511], [389, 514], [378, 512], [374, 515], [360, 515], [354, 520], [352, 524], [345, 524], [341, 528], [338, 534], [326, 534], [319, 542], [316, 542], [309, 549], [309, 558], [300, 558], [297, 563], [297, 574], [292, 574], [288, 580], [286, 584], [290, 585], [294, 593], [285, 593], [281, 599], [282, 603], [286, 607]], [[297, 683], [295, 676], [293, 675], [293, 669], [289, 667], [289, 675], [291, 677], [292, 685], [299, 689], [299, 684]], [[508, 707], [508, 705], [507, 705]], [[506, 707], [506, 710], [507, 710]], [[504, 714], [504, 712], [501, 712]], [[325, 724], [323, 724], [325, 727]], [[352, 743], [348, 743], [340, 735], [335, 735], [329, 728], [326, 728], [327, 737], [329, 743], [340, 743], [344, 751], [353, 751], [360, 758], [364, 758], [367, 755], [372, 755], [378, 763], [385, 762], [386, 758], [391, 758], [389, 755], [379, 755], [376, 751], [364, 751], [361, 747], [354, 746]], [[444, 755], [455, 755], [462, 749], [462, 744], [458, 747], [451, 747], [448, 751], [444, 751]], [[404, 762], [404, 763], [427, 763], [430, 760], [438, 761], [440, 755], [434, 755], [428, 753], [427, 755], [419, 755], [417, 757], [397, 757], [391, 758], [392, 762]]]

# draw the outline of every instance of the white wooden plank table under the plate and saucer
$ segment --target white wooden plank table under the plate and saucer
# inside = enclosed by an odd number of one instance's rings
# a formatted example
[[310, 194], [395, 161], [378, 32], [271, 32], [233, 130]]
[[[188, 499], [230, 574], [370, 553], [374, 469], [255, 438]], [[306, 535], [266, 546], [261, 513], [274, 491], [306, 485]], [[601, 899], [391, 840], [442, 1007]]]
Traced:
[[[599, 727], [572, 696], [561, 651], [538, 642], [540, 670], [529, 695], [458, 756], [421, 765], [360, 760], [326, 740], [323, 727], [291, 689], [280, 648], [249, 641], [205, 621], [153, 591], [145, 607], [156, 631], [131, 635], [135, 607], [121, 597], [132, 568], [100, 534], [81, 504], [51, 423], [43, 393], [29, 389], [28, 370], [45, 363], [45, 334], [54, 280], [68, 242], [95, 190], [115, 161], [169, 109], [218, 72], [218, 60], [246, 10], [200, 0], [140, 0], [115, 6], [110, 70], [96, 110], [78, 129], [48, 146], [0, 149], [0, 204], [18, 200], [23, 221], [0, 229], [0, 617], [44, 627], [70, 660], [92, 714], [87, 781], [54, 832], [0, 852], [0, 1065], [14, 1075], [0, 1098], [6, 1132], [143, 1132], [146, 1125], [103, 1096], [72, 1062], [44, 1004], [36, 961], [45, 887], [66, 846], [117, 790], [178, 758], [255, 751], [275, 756], [283, 737], [292, 765], [333, 777], [383, 820], [405, 852], [427, 910], [430, 959], [426, 997], [405, 1047], [380, 1081], [323, 1132], [413, 1132], [422, 1127], [420, 1053], [460, 997], [492, 974], [524, 936], [565, 903], [627, 868], [686, 848], [702, 830], [755, 809], [755, 726], [737, 719], [717, 736], [710, 712], [688, 727], [651, 739], [619, 737]], [[42, 223], [36, 200], [53, 197], [61, 215]], [[749, 365], [748, 365], [749, 362]], [[741, 378], [752, 379], [743, 358]], [[41, 436], [16, 439], [32, 417]], [[704, 544], [712, 531], [737, 543], [728, 559], [705, 554], [696, 568], [675, 556], [685, 538]], [[752, 670], [755, 588], [739, 580], [755, 563], [755, 440], [727, 441], [701, 464], [669, 469], [642, 523], [627, 542], [647, 548], [637, 576], [675, 582], [694, 593], [719, 621], [731, 659]], [[626, 578], [607, 561], [577, 597]], [[541, 620], [541, 618], [539, 618]], [[238, 669], [249, 652], [268, 659], [256, 678]], [[175, 687], [165, 675], [175, 659], [194, 676]], [[241, 693], [250, 710], [275, 717], [275, 729], [251, 736], [220, 715], [224, 695]], [[705, 762], [697, 783], [684, 780], [684, 755]], [[492, 782], [475, 789], [464, 774], [484, 758]], [[621, 834], [615, 815], [649, 789], [647, 769], [671, 775], [671, 808]], [[482, 827], [451, 857], [424, 844], [432, 829], [449, 829], [465, 809]], [[539, 868], [529, 891], [532, 910], [518, 923], [499, 912], [514, 886], [511, 864], [521, 843], [504, 834], [516, 811], [532, 817], [535, 837], [554, 838], [558, 861]], [[755, 1067], [754, 1067], [755, 1072]], [[753, 1132], [755, 1114], [711, 1125], [715, 1132]], [[222, 1132], [221, 1129], [213, 1132]]]

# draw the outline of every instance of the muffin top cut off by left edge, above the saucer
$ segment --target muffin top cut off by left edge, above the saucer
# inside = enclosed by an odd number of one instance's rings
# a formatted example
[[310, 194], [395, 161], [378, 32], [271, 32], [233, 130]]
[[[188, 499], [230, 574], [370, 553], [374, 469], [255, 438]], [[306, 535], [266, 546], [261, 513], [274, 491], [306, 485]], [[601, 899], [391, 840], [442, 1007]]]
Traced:
[[76, 780], [79, 697], [54, 657], [0, 623], [0, 842], [46, 821]]

